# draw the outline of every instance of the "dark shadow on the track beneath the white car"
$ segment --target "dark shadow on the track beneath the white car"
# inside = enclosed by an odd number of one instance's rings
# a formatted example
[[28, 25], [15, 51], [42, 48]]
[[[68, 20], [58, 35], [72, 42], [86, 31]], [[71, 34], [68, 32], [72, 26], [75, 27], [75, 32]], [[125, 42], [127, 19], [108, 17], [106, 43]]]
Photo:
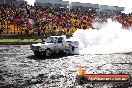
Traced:
[[46, 56], [35, 56], [35, 55], [31, 55], [28, 56], [27, 58], [29, 59], [34, 59], [34, 60], [46, 60], [46, 59], [59, 59], [59, 58], [64, 58], [64, 57], [68, 57], [68, 56], [74, 56], [74, 55], [66, 55], [66, 54], [53, 54], [50, 57], [46, 57]]

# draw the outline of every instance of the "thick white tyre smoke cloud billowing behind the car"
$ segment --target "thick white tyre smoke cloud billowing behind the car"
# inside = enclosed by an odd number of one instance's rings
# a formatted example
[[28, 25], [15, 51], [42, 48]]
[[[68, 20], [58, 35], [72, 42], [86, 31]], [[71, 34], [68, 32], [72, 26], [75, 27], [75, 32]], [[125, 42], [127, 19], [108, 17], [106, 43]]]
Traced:
[[132, 51], [132, 30], [122, 29], [120, 23], [112, 22], [110, 19], [108, 23], [102, 25], [103, 27], [100, 30], [78, 29], [73, 34], [72, 38], [79, 41], [80, 54], [108, 54]]

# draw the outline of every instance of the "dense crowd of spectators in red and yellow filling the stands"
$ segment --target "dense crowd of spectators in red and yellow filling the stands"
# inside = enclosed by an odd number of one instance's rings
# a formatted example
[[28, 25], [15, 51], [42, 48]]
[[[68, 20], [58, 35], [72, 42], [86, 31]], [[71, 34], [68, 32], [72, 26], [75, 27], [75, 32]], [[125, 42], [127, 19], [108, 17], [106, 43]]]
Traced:
[[[0, 34], [4, 30], [24, 31], [29, 35], [71, 36], [77, 29], [94, 29], [93, 22], [105, 22], [108, 18], [118, 21], [127, 29], [132, 26], [132, 17], [124, 13], [108, 14], [93, 10], [69, 10], [64, 8], [42, 8], [23, 4], [0, 5]], [[30, 32], [30, 33], [29, 33]], [[8, 33], [8, 32], [7, 32]]]

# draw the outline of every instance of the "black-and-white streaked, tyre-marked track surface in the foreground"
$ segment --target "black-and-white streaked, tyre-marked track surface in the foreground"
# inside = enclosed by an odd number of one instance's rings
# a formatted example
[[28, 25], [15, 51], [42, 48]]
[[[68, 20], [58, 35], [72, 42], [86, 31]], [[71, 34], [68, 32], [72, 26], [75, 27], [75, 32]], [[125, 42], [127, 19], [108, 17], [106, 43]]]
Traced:
[[132, 76], [132, 53], [35, 57], [29, 45], [0, 46], [0, 88], [132, 88], [130, 84], [76, 84], [76, 68], [89, 74]]

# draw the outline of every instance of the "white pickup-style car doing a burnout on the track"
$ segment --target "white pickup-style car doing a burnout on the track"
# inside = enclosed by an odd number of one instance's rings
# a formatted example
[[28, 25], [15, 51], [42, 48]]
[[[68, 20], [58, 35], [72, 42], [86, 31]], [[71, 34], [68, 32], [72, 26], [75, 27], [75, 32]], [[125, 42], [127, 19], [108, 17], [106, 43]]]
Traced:
[[50, 36], [44, 42], [32, 44], [31, 50], [35, 55], [50, 56], [53, 53], [64, 52], [70, 54], [75, 52], [79, 47], [79, 42], [71, 39], [66, 39], [65, 36]]

